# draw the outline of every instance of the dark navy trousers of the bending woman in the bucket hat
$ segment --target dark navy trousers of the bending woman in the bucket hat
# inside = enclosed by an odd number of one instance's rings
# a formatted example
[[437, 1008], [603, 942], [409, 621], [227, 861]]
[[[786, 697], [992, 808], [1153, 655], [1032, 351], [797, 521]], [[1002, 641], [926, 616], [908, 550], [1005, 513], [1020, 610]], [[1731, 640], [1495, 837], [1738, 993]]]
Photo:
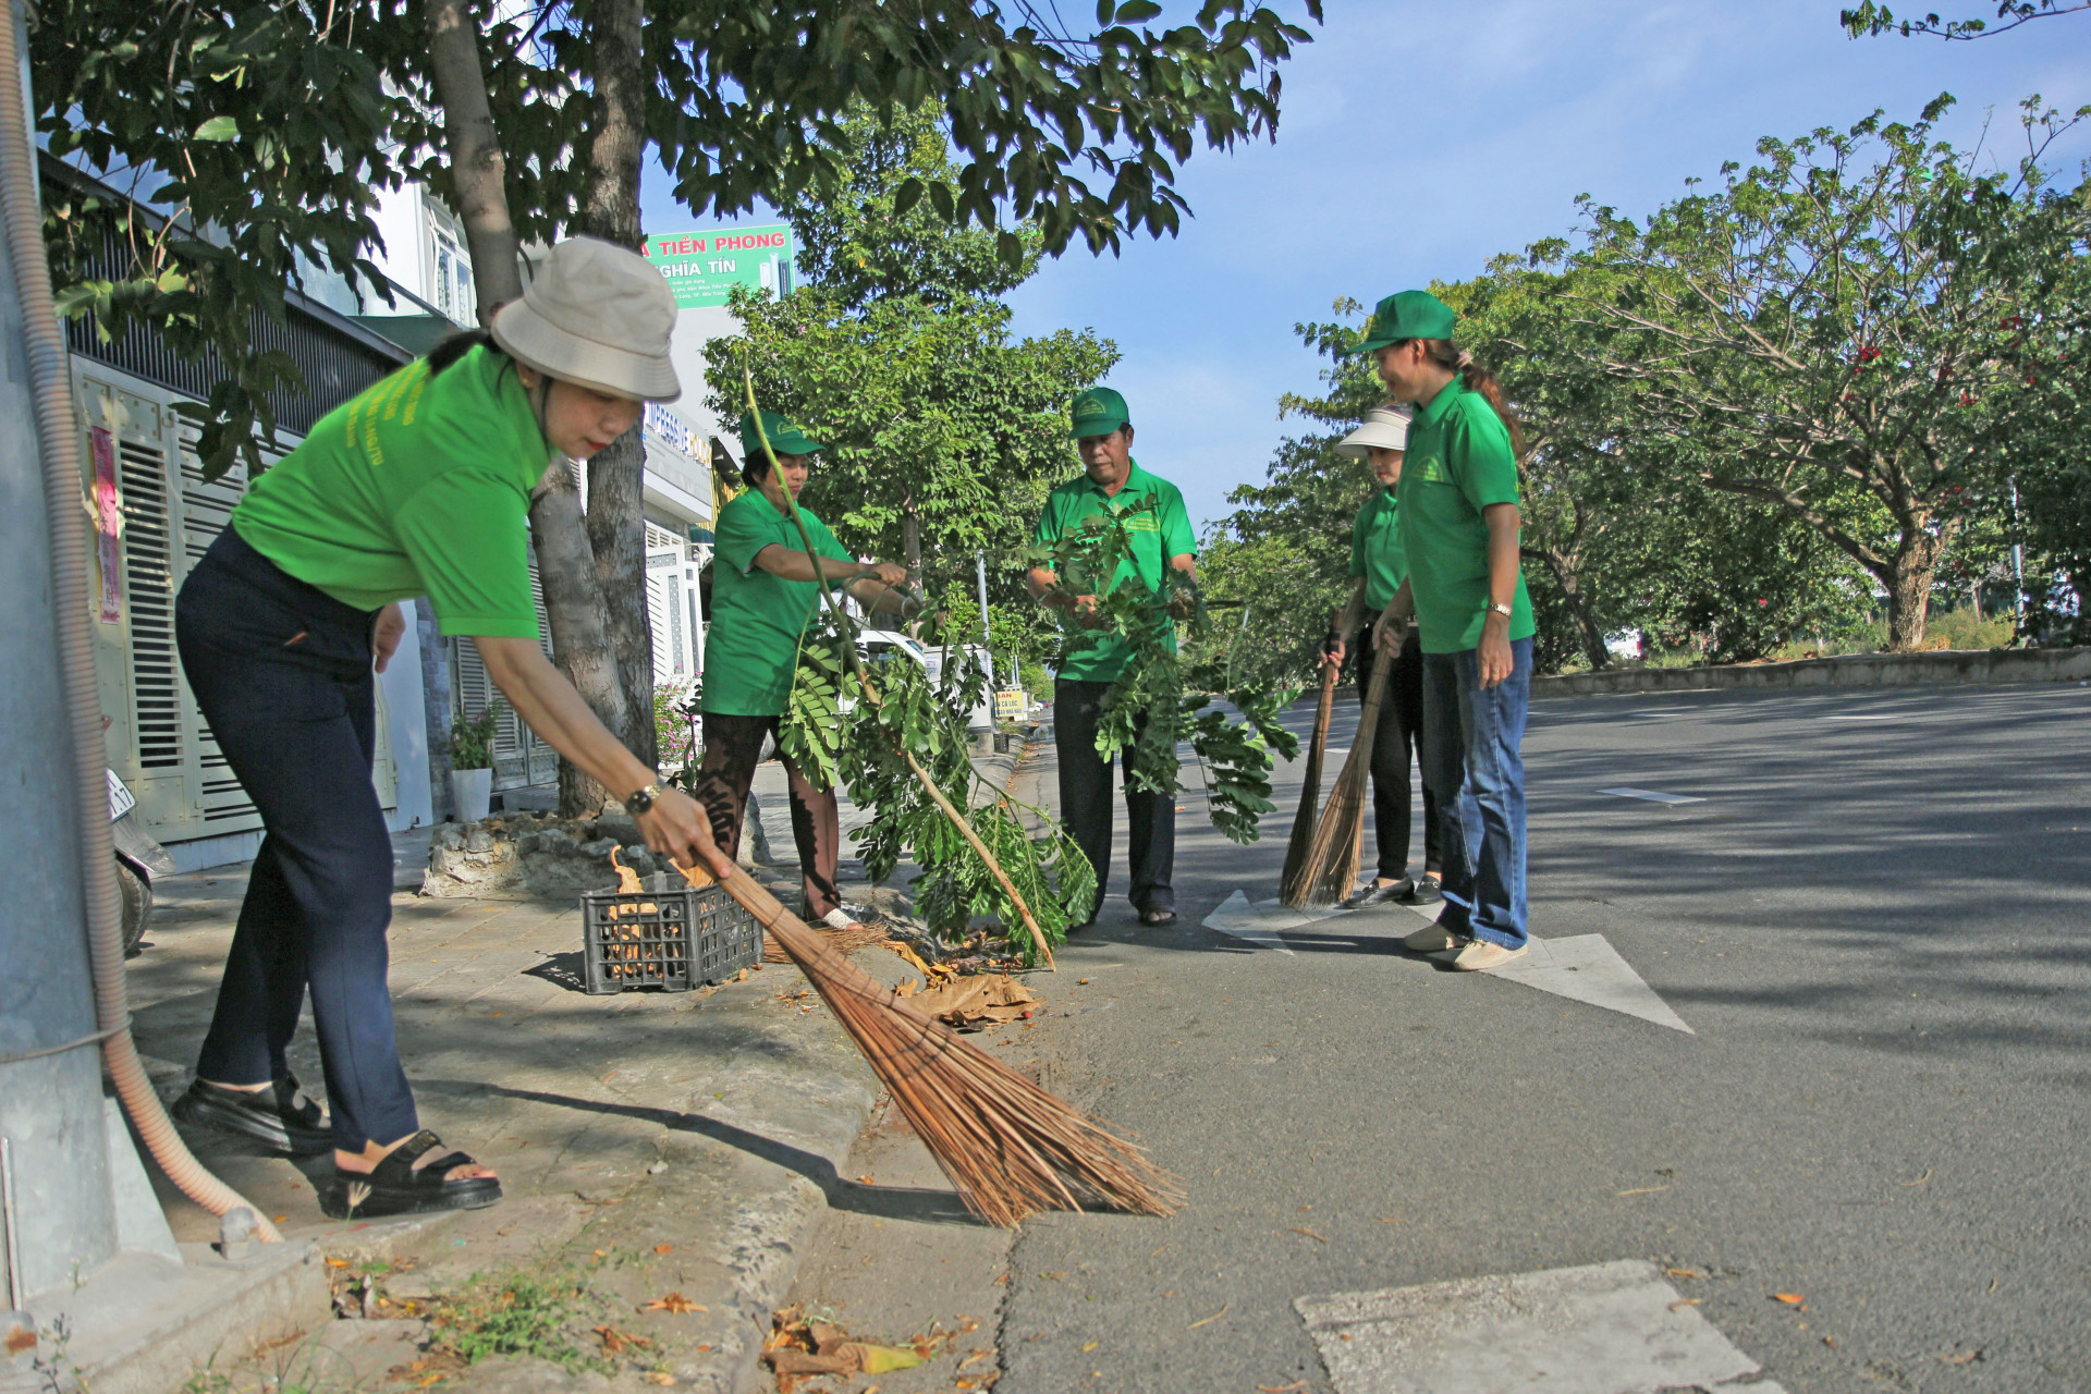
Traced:
[[420, 1129], [385, 986], [393, 857], [370, 784], [374, 619], [286, 577], [230, 527], [176, 602], [182, 671], [268, 830], [197, 1074], [286, 1074], [309, 984], [343, 1152]]

